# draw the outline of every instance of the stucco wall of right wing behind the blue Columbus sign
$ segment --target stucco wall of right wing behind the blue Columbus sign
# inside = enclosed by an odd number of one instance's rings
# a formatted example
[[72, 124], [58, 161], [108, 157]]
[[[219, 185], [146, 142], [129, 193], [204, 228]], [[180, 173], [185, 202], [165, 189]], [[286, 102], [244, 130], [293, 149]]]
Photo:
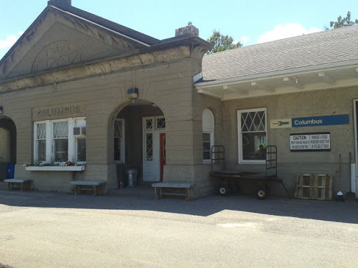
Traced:
[[[278, 147], [278, 175], [283, 179], [289, 191], [294, 192], [296, 187], [295, 174], [299, 173], [333, 174], [334, 193], [349, 191], [348, 157], [350, 151], [352, 156], [355, 154], [353, 124], [353, 101], [355, 99], [358, 99], [357, 87], [223, 102], [222, 126], [224, 138], [222, 144], [226, 148], [227, 167], [238, 170], [262, 170], [262, 165], [238, 164], [237, 110], [266, 107], [268, 144]], [[335, 114], [349, 114], [350, 124], [281, 129], [269, 127], [271, 119]], [[329, 132], [331, 134], [331, 151], [290, 151], [289, 134], [317, 132]], [[355, 161], [355, 159], [352, 159], [352, 161]], [[341, 173], [339, 170], [341, 170]]]

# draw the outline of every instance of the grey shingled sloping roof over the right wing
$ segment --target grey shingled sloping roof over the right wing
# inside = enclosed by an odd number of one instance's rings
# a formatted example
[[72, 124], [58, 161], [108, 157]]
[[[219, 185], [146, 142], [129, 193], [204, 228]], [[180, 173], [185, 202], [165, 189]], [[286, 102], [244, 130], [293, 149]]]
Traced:
[[358, 26], [352, 26], [209, 54], [202, 82], [354, 61], [357, 44]]

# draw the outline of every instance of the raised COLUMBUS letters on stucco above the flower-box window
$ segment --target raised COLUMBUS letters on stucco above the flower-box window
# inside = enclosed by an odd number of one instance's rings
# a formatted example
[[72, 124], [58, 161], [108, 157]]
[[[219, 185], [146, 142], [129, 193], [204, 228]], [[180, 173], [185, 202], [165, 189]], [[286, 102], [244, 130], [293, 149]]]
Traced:
[[32, 119], [34, 121], [84, 116], [85, 105], [80, 103], [50, 107], [39, 107], [32, 109]]

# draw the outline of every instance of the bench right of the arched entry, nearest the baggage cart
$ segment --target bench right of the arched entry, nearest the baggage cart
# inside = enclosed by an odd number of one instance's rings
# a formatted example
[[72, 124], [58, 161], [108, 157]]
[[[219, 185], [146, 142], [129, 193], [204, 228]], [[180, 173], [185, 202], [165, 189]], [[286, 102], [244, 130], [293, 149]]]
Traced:
[[[157, 182], [152, 184], [155, 189], [156, 199], [161, 199], [163, 195], [177, 195], [184, 196], [187, 201], [194, 200], [194, 186], [195, 184], [179, 182]], [[183, 191], [180, 192], [181, 190]]]

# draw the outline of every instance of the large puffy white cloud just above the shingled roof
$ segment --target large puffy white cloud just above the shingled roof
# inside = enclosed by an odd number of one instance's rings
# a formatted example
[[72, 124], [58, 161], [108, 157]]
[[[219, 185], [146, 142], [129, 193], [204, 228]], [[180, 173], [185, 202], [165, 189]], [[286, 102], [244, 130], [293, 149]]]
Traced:
[[305, 29], [301, 24], [287, 23], [285, 25], [276, 25], [273, 27], [273, 31], [267, 31], [265, 34], [259, 36], [257, 43], [264, 43], [293, 36], [301, 36], [301, 34], [311, 34], [317, 31], [321, 30], [315, 27]]

